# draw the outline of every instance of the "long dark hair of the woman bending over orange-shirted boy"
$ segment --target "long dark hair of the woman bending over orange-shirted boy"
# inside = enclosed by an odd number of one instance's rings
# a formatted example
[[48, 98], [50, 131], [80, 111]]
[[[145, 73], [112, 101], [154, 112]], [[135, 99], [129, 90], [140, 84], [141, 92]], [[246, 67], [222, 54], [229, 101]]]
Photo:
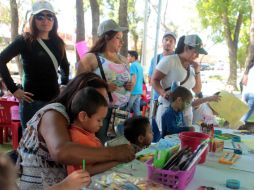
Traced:
[[71, 114], [72, 99], [80, 89], [88, 86], [93, 88], [105, 88], [106, 90], [108, 89], [107, 83], [95, 73], [81, 73], [72, 79], [66, 88], [54, 100], [52, 100], [51, 103], [58, 102], [63, 104], [72, 122], [74, 119]]

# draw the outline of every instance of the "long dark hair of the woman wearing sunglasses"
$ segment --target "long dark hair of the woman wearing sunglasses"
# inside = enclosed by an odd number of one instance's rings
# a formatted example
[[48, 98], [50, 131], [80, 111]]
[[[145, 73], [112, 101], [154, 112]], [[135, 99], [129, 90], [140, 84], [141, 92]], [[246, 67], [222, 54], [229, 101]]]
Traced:
[[[24, 36], [25, 40], [27, 41], [27, 43], [29, 44], [29, 46], [31, 47], [31, 43], [33, 41], [37, 40], [38, 35], [39, 35], [39, 30], [36, 27], [34, 15], [32, 15], [30, 17], [29, 25], [30, 25], [30, 29], [29, 29], [30, 31], [25, 32], [23, 34], [23, 36]], [[57, 21], [56, 16], [54, 15], [54, 24], [53, 24], [52, 30], [49, 32], [49, 38], [52, 39], [53, 43], [60, 50], [61, 57], [63, 58], [64, 53], [65, 53], [65, 44], [64, 44], [64, 41], [62, 40], [62, 38], [60, 38], [60, 36], [58, 35], [57, 30], [58, 30], [58, 21]]]

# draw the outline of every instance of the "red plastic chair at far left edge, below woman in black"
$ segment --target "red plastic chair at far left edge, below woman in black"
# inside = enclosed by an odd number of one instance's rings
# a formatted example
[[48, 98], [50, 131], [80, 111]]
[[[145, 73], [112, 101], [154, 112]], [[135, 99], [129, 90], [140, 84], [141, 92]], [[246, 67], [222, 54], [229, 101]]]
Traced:
[[[14, 150], [18, 147], [18, 129], [21, 127], [19, 121], [12, 121], [11, 107], [19, 105], [18, 102], [0, 100], [0, 144], [3, 144], [3, 137], [5, 142], [8, 140], [8, 129], [12, 132], [12, 148]], [[3, 133], [4, 132], [4, 133]]]

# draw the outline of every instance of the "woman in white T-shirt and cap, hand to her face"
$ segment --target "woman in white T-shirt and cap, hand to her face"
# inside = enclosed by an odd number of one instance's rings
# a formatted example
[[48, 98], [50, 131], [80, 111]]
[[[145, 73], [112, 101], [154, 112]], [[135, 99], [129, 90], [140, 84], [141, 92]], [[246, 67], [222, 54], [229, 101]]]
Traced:
[[[178, 81], [181, 86], [194, 93], [201, 92], [200, 65], [195, 62], [199, 54], [207, 54], [200, 37], [196, 34], [182, 36], [178, 41], [175, 54], [163, 58], [156, 66], [152, 85], [160, 95], [156, 114], [156, 122], [160, 130], [162, 127], [161, 117], [170, 106], [172, 82]], [[193, 103], [192, 106], [194, 106]], [[186, 108], [184, 119], [187, 126], [192, 125], [192, 115], [192, 107]]]

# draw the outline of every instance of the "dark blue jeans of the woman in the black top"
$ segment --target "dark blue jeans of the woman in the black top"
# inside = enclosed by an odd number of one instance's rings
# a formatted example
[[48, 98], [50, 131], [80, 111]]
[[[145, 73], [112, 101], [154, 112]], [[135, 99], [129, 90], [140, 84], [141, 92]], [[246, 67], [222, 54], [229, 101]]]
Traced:
[[44, 107], [48, 102], [45, 101], [39, 101], [34, 100], [31, 103], [28, 103], [26, 101], [21, 101], [19, 106], [19, 114], [20, 114], [20, 121], [22, 125], [22, 130], [24, 131], [26, 126], [26, 123], [34, 116], [34, 114]]

